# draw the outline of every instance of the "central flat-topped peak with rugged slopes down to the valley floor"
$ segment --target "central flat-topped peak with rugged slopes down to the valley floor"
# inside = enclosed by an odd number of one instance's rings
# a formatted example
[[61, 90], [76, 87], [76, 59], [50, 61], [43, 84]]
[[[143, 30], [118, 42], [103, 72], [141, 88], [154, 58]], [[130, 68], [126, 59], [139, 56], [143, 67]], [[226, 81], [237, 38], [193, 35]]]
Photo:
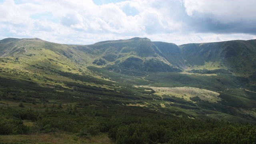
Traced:
[[182, 71], [179, 64], [168, 61], [166, 58], [170, 56], [165, 56], [148, 38], [99, 42], [88, 47], [94, 48], [99, 56], [95, 64], [108, 64], [108, 70], [122, 74], [142, 76], [148, 72]]

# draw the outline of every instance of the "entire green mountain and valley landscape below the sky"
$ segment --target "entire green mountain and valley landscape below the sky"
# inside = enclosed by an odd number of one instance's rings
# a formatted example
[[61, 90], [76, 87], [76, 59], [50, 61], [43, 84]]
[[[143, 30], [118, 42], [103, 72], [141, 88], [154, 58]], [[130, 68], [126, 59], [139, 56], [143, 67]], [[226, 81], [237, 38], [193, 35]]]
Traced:
[[[0, 141], [153, 144], [184, 143], [183, 136], [208, 143], [222, 134], [229, 141], [211, 142], [253, 142], [255, 56], [256, 40], [177, 46], [148, 38], [91, 45], [6, 38]], [[12, 141], [18, 134], [23, 141]]]

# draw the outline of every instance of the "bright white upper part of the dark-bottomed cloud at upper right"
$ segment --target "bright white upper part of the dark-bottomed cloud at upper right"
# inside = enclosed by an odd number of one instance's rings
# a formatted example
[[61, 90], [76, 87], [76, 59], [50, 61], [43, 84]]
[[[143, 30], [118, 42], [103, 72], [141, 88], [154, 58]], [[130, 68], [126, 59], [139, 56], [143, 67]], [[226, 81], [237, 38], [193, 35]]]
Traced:
[[240, 20], [256, 21], [255, 0], [184, 0], [184, 6], [189, 16], [201, 14], [211, 15], [221, 22], [236, 22]]

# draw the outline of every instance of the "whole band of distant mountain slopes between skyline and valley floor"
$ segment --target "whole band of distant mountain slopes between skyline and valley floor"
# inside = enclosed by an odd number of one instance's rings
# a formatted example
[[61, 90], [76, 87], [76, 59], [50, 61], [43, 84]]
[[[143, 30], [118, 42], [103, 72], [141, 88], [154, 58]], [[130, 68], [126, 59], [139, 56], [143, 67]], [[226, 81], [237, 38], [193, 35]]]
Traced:
[[[256, 71], [256, 40], [181, 46], [152, 42], [148, 38], [110, 40], [91, 45], [56, 44], [38, 38], [0, 40], [1, 57], [34, 54], [39, 54], [35, 55], [37, 59], [42, 56], [41, 60], [45, 62], [51, 59], [72, 65], [100, 66], [123, 74], [141, 76], [148, 72], [203, 69], [226, 69], [239, 76], [250, 76]], [[40, 60], [38, 62], [41, 63]]]

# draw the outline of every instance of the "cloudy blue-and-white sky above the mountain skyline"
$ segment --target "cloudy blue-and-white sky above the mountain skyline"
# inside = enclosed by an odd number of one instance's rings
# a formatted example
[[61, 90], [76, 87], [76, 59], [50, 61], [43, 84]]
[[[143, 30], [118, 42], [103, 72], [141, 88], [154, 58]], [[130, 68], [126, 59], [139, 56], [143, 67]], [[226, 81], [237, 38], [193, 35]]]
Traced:
[[0, 40], [94, 44], [256, 39], [256, 0], [0, 0]]

